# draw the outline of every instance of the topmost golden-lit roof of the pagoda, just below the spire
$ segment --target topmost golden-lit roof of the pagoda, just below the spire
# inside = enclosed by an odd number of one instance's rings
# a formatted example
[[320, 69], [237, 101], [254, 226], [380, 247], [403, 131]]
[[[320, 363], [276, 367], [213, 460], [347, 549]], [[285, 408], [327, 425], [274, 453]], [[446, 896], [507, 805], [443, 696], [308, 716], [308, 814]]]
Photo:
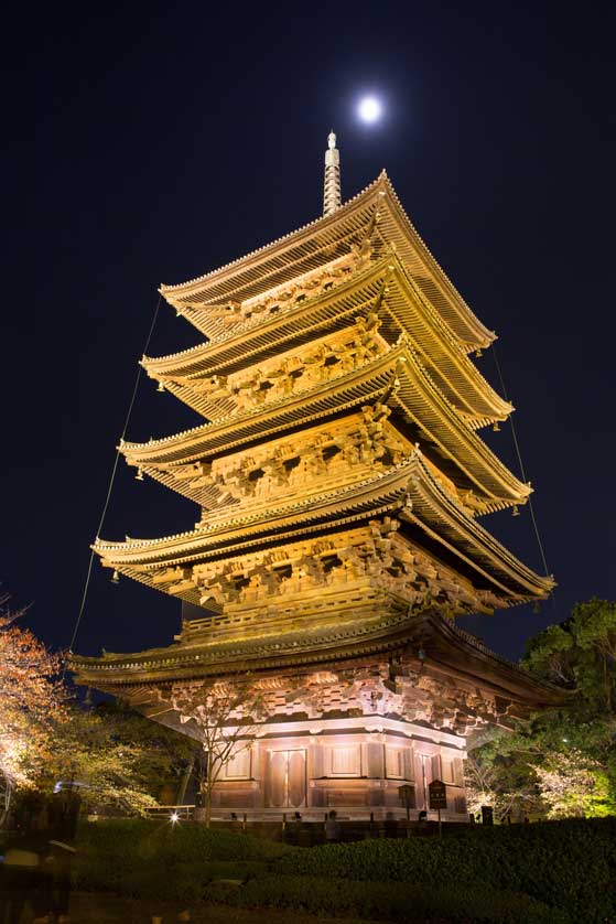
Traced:
[[430, 253], [385, 171], [332, 214], [196, 279], [163, 284], [160, 291], [198, 326], [198, 314], [212, 305], [263, 294], [348, 254], [350, 244], [361, 239], [377, 212], [379, 235], [397, 248], [417, 286], [465, 348], [491, 343], [495, 334], [475, 316]]

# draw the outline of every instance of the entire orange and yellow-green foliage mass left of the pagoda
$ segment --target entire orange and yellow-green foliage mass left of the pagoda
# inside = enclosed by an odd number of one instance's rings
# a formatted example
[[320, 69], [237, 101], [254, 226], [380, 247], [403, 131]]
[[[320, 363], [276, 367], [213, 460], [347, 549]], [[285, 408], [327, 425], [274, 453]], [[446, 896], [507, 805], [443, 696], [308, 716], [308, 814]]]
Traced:
[[50, 653], [0, 599], [0, 823], [17, 793], [80, 784], [88, 804], [143, 812], [192, 766], [184, 735], [119, 705], [84, 709]]

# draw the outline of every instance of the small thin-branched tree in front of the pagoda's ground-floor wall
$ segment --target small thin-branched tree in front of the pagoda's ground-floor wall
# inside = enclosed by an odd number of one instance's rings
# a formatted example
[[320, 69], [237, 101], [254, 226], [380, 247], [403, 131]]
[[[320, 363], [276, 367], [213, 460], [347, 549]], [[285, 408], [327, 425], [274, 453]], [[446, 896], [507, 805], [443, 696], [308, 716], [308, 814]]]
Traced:
[[180, 721], [194, 722], [205, 755], [205, 778], [201, 789], [205, 825], [212, 821], [212, 795], [229, 761], [251, 746], [256, 724], [263, 715], [261, 692], [248, 678], [236, 683], [176, 684], [172, 703]]

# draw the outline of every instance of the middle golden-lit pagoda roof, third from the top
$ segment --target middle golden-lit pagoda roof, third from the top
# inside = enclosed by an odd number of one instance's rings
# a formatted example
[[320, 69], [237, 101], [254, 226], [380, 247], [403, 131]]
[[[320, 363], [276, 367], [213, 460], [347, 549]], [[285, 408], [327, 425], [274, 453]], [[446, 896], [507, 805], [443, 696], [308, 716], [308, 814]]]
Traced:
[[418, 427], [426, 442], [467, 482], [465, 486], [486, 498], [487, 509], [523, 503], [531, 493], [464, 423], [404, 339], [371, 363], [314, 388], [172, 437], [148, 443], [123, 442], [120, 450], [129, 464], [198, 503], [186, 479], [176, 479], [173, 470], [179, 465], [227, 453], [255, 440], [264, 442], [293, 427], [372, 400], [385, 401]]

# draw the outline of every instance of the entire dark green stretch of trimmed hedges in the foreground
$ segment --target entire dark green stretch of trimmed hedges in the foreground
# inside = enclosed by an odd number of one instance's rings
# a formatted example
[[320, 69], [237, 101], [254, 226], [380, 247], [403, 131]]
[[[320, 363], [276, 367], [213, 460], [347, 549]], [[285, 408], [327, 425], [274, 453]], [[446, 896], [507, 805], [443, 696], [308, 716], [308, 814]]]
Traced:
[[[83, 825], [77, 888], [400, 921], [616, 921], [616, 818], [295, 848], [169, 821]], [[216, 880], [237, 879], [241, 888]]]

